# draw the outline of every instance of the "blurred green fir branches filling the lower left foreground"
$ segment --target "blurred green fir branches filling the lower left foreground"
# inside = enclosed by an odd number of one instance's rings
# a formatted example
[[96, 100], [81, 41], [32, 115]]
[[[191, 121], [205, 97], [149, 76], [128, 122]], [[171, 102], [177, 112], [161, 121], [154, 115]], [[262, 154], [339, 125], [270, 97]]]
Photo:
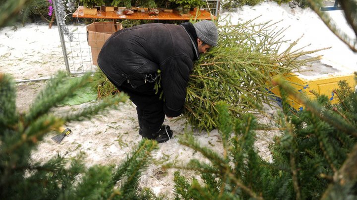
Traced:
[[[51, 111], [90, 82], [90, 74], [69, 80], [60, 72], [40, 92], [29, 110], [16, 111], [12, 78], [0, 74], [0, 196], [2, 199], [154, 199], [147, 189], [139, 191], [142, 169], [157, 148], [156, 142], [142, 140], [133, 153], [115, 166], [84, 167], [84, 154], [74, 159], [61, 156], [46, 163], [29, 163], [31, 151], [51, 130], [64, 123], [90, 119], [116, 109], [124, 94], [107, 97], [74, 113], [54, 115]], [[120, 182], [120, 185], [118, 183]]]

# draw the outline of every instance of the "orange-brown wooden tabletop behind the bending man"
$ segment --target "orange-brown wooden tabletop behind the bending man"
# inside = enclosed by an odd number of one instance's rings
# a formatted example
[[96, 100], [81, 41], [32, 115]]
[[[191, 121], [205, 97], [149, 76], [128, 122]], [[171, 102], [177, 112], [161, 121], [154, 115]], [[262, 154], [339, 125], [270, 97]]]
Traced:
[[[131, 15], [119, 15], [116, 11], [114, 12], [104, 12], [101, 11], [97, 15], [84, 15], [83, 6], [79, 6], [77, 10], [73, 13], [72, 17], [78, 18], [96, 18], [96, 19], [146, 19], [146, 20], [190, 20], [192, 19], [211, 19], [211, 14], [206, 10], [199, 10], [198, 15], [196, 16], [196, 11], [189, 11], [190, 16], [181, 16], [177, 10], [173, 12], [164, 12], [160, 11], [157, 16], [149, 16], [148, 12], [135, 11]], [[216, 16], [212, 15], [214, 19]]]

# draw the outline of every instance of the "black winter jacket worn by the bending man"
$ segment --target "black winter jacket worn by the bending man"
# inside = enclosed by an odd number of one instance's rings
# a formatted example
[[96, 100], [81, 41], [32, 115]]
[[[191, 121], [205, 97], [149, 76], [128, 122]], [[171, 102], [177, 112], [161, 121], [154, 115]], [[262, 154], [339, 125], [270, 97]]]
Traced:
[[189, 73], [198, 56], [190, 22], [150, 23], [114, 33], [100, 51], [98, 65], [115, 85], [128, 81], [133, 88], [154, 81], [160, 69], [164, 112], [176, 117], [182, 113]]

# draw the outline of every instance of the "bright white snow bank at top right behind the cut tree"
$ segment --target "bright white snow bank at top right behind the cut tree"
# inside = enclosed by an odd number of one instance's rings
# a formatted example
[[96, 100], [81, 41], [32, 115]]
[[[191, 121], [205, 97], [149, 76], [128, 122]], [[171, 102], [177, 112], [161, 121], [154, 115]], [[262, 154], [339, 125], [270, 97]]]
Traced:
[[[356, 35], [346, 22], [342, 10], [325, 13], [331, 16], [337, 22], [338, 27], [341, 27], [348, 36], [356, 39]], [[279, 6], [276, 2], [271, 1], [253, 7], [245, 5], [237, 8], [235, 12], [223, 12], [221, 16], [230, 16], [233, 23], [244, 22], [256, 17], [258, 18], [254, 20], [255, 23], [283, 20], [277, 26], [279, 28], [289, 27], [284, 32], [284, 39], [295, 41], [302, 36], [296, 48], [302, 48], [309, 44], [311, 45], [304, 50], [331, 47], [331, 49], [316, 53], [316, 55], [323, 55], [321, 63], [326, 65], [310, 69], [312, 72], [299, 74], [301, 78], [313, 80], [327, 76], [350, 75], [357, 70], [357, 54], [338, 39], [311, 9], [291, 8], [288, 4]], [[284, 46], [281, 50], [284, 50]]]

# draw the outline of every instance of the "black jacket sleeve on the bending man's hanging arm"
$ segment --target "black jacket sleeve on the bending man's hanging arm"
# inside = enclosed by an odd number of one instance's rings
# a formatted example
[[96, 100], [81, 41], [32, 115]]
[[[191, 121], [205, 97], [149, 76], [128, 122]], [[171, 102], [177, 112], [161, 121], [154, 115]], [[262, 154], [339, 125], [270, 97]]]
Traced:
[[186, 87], [193, 62], [186, 56], [174, 56], [161, 65], [161, 81], [164, 90], [164, 112], [177, 117], [183, 111]]

